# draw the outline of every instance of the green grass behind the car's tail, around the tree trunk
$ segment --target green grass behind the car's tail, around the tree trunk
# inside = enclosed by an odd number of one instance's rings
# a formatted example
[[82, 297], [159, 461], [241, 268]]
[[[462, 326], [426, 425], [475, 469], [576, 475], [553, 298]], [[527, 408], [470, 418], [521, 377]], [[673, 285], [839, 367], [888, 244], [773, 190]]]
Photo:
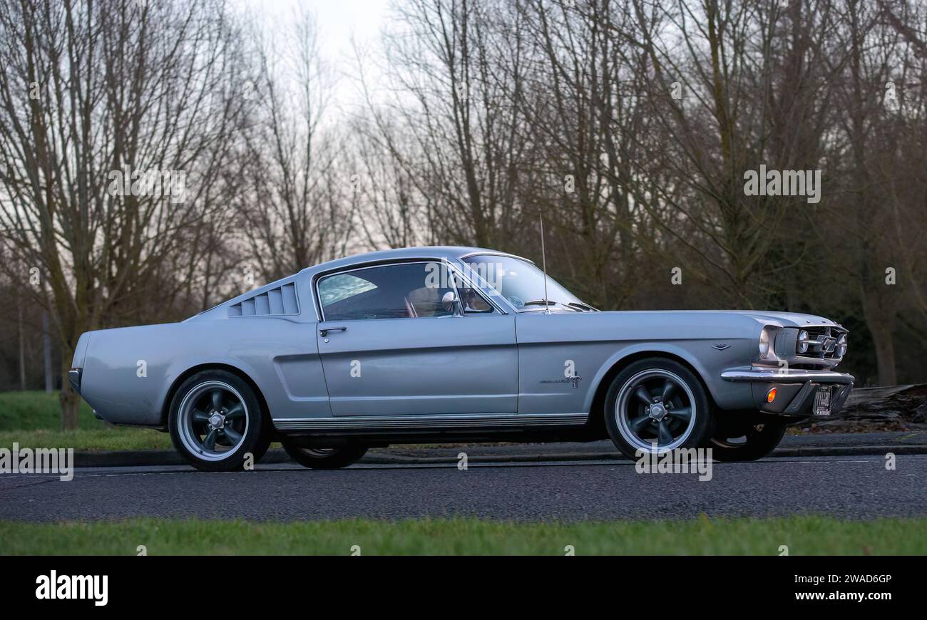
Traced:
[[146, 428], [121, 428], [94, 417], [87, 403], [78, 410], [79, 428], [61, 430], [58, 393], [0, 392], [0, 447], [170, 449], [171, 437]]

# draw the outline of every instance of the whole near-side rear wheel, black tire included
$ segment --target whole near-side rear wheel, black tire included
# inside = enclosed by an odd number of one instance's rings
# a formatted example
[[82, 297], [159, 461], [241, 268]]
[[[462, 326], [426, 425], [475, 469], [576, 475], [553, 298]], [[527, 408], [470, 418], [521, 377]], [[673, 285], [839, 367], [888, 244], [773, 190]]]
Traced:
[[[213, 427], [213, 412], [222, 417], [221, 427]], [[254, 390], [228, 371], [202, 371], [184, 381], [171, 400], [168, 427], [174, 448], [204, 472], [241, 470], [248, 454], [258, 462], [269, 445], [266, 416]]]

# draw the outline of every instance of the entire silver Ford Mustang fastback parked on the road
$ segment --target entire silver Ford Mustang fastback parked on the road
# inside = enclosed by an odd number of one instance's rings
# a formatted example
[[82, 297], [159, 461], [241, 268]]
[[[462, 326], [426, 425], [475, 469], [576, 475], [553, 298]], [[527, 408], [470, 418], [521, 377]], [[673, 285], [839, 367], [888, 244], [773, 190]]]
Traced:
[[806, 314], [599, 311], [533, 262], [415, 247], [310, 267], [182, 323], [83, 334], [70, 383], [202, 470], [273, 440], [311, 468], [370, 447], [590, 441], [758, 459], [838, 411], [846, 330]]

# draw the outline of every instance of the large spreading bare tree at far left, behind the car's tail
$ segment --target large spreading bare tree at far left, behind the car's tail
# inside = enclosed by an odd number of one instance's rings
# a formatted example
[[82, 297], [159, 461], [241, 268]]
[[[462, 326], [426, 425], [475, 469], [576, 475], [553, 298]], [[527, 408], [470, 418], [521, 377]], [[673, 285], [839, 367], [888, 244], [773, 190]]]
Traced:
[[[218, 0], [4, 3], [0, 42], [0, 226], [66, 376], [79, 335], [163, 311], [210, 251], [184, 242], [224, 208], [240, 46]], [[65, 428], [77, 402], [65, 381]]]

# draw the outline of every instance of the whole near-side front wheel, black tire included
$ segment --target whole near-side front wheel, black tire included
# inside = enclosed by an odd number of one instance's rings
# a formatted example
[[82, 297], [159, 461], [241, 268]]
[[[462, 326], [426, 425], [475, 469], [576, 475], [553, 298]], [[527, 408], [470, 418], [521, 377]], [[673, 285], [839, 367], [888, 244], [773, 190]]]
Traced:
[[[675, 387], [667, 389], [667, 382]], [[638, 391], [641, 386], [642, 393]], [[650, 397], [649, 405], [643, 400], [644, 393]], [[619, 399], [623, 407], [620, 415]], [[662, 409], [654, 410], [652, 415], [654, 405]], [[653, 449], [654, 439], [657, 452], [662, 453], [694, 448], [711, 437], [714, 430], [714, 416], [702, 381], [686, 366], [667, 358], [635, 361], [617, 373], [605, 396], [604, 416], [609, 437], [629, 459], [639, 458], [639, 450]], [[671, 441], [666, 440], [667, 433]]]

